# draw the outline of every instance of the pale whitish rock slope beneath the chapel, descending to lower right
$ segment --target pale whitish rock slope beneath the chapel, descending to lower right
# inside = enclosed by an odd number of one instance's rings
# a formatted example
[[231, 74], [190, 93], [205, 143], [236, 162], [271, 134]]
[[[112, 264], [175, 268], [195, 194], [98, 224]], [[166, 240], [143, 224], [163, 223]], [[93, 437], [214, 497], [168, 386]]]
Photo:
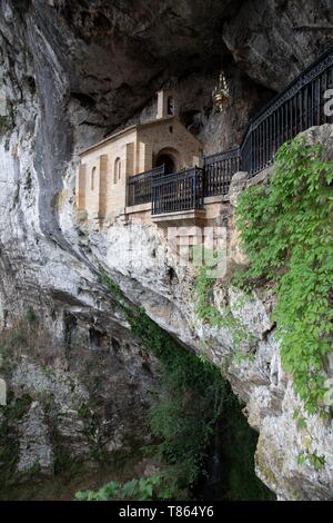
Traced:
[[[327, 158], [332, 158], [333, 126], [313, 128], [306, 136], [309, 142], [324, 144]], [[236, 194], [255, 182], [252, 179], [246, 184], [244, 174], [234, 178], [228, 206], [228, 254], [232, 257], [230, 229]], [[258, 182], [265, 180], [259, 175]], [[105, 264], [124, 294], [183, 344], [198, 354], [204, 353], [223, 371], [233, 391], [246, 404], [248, 421], [260, 433], [255, 455], [259, 477], [281, 500], [332, 499], [333, 422], [306, 414], [293, 392], [291, 377], [282, 368], [271, 319], [275, 304], [273, 289], [253, 289], [249, 299], [230, 286], [228, 275], [216, 279], [214, 308], [223, 314], [230, 307], [231, 315], [225, 326], [210, 327], [195, 313], [198, 269], [179, 265], [176, 253], [159, 229], [140, 224], [114, 225], [108, 231], [107, 245]], [[240, 326], [251, 337], [238, 344]], [[333, 376], [333, 367], [330, 375]], [[297, 417], [305, 421], [304, 427], [297, 425]], [[299, 456], [304, 452], [321, 456], [323, 466], [316, 468], [311, 460], [300, 464]]]

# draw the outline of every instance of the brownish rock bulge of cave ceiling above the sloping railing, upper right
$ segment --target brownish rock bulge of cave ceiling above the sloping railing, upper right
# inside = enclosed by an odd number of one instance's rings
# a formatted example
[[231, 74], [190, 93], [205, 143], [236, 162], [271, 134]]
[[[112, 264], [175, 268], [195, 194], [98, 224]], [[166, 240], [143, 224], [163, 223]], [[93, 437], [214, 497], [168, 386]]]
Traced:
[[248, 75], [282, 90], [332, 42], [331, 2], [245, 0], [224, 26], [224, 42]]

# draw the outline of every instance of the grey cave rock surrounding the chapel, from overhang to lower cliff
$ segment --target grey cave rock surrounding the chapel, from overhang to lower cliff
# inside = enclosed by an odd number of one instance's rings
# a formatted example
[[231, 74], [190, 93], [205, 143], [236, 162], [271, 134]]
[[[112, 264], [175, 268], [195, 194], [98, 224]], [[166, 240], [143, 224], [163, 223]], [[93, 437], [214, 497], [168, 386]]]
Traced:
[[[332, 497], [332, 427], [313, 417], [307, 434], [292, 421], [297, 399], [272, 333], [273, 297], [254, 295], [235, 312], [255, 338], [238, 362], [230, 329], [198, 324], [194, 274], [174, 264], [159, 230], [115, 225], [107, 236], [87, 235], [73, 219], [78, 148], [147, 118], [168, 82], [206, 152], [234, 145], [249, 117], [330, 45], [329, 3], [1, 1], [0, 326], [18, 333], [26, 318], [26, 332], [1, 339], [0, 374], [17, 401], [29, 397], [17, 427], [6, 413], [1, 420], [18, 435], [19, 470], [37, 462], [50, 470], [59, 448], [89, 460], [100, 446], [132, 452], [149, 440], [142, 420], [157, 362], [129, 334], [101, 284], [103, 266], [163, 328], [228, 367], [260, 431], [260, 477], [282, 499]], [[216, 114], [211, 91], [221, 66], [233, 103]], [[216, 289], [215, 299], [223, 307], [236, 296]], [[304, 445], [325, 455], [322, 471], [297, 465]]]

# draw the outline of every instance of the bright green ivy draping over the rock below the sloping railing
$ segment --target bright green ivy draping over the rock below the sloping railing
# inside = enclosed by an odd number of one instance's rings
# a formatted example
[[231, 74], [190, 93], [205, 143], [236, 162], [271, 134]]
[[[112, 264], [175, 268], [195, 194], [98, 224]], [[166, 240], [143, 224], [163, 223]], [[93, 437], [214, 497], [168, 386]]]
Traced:
[[238, 283], [276, 284], [281, 357], [309, 413], [325, 412], [332, 351], [333, 161], [322, 145], [281, 147], [269, 186], [240, 195], [238, 228], [249, 268]]

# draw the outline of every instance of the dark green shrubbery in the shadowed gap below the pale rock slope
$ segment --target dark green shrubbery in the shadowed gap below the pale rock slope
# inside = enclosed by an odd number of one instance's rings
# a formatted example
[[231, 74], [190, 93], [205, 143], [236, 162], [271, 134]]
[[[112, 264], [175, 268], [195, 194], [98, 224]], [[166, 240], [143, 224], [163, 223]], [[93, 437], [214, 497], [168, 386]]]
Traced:
[[141, 310], [130, 318], [132, 332], [161, 365], [159, 401], [150, 426], [161, 441], [155, 453], [172, 465], [179, 487], [191, 486], [204, 466], [225, 384], [216, 367], [181, 347]]

